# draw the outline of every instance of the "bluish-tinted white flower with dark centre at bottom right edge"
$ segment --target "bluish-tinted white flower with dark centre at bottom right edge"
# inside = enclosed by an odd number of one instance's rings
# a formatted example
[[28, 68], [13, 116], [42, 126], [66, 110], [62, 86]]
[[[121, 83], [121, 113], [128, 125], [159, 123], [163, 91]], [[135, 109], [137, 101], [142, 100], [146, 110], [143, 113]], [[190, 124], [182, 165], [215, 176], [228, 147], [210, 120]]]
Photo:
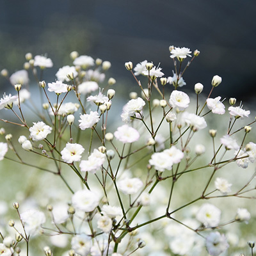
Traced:
[[206, 237], [206, 248], [212, 256], [218, 256], [222, 252], [225, 252], [228, 248], [225, 235], [221, 235], [219, 232], [211, 232], [209, 236]]

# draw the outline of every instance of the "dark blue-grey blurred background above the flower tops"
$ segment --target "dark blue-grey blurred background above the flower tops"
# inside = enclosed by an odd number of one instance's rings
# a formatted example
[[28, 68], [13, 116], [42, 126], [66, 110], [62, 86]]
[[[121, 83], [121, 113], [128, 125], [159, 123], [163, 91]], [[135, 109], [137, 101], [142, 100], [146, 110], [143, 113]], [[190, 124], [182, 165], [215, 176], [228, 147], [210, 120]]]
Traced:
[[[136, 86], [125, 61], [148, 60], [172, 76], [168, 47], [188, 47], [201, 53], [184, 74], [185, 90], [195, 83], [211, 88], [212, 76], [223, 83], [212, 96], [255, 98], [256, 2], [173, 0], [1, 0], [0, 69], [22, 69], [26, 52], [47, 54], [54, 68], [71, 65], [69, 53], [109, 60], [117, 86]], [[53, 78], [54, 77], [54, 78]], [[9, 84], [0, 78], [0, 90]], [[170, 87], [170, 90], [172, 88]]]

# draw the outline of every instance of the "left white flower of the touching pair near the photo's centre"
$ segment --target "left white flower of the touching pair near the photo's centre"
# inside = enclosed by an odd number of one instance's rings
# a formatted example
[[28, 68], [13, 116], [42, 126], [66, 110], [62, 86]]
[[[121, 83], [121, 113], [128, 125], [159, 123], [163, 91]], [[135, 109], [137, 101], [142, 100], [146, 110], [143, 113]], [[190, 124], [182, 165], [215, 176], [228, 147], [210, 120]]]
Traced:
[[164, 170], [171, 170], [173, 166], [172, 157], [168, 156], [164, 152], [157, 152], [152, 154], [151, 159], [149, 159], [149, 164], [154, 166], [154, 168], [159, 172], [164, 172]]

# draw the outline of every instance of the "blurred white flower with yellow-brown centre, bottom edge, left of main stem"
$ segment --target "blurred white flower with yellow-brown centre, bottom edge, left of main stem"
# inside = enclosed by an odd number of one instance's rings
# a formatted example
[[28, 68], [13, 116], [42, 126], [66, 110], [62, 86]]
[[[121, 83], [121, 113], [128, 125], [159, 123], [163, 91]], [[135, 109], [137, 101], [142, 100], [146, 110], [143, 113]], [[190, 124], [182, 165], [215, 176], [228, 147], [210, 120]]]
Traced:
[[81, 256], [87, 256], [90, 253], [92, 247], [92, 239], [86, 234], [81, 234], [72, 237], [71, 248]]

